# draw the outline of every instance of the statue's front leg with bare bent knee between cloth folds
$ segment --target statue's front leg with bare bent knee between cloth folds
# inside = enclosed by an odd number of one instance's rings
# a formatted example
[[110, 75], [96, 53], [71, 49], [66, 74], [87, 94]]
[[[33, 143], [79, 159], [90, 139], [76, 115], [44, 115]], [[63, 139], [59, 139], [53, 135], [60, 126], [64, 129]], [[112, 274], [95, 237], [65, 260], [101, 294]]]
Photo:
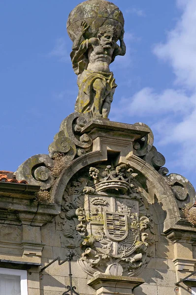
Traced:
[[102, 105], [104, 91], [105, 91], [105, 86], [101, 79], [95, 80], [95, 82], [93, 83], [93, 89], [96, 92], [96, 95], [94, 97], [93, 115], [94, 117], [98, 118], [98, 117], [102, 117], [102, 115], [100, 114], [100, 111], [101, 111], [101, 105]]

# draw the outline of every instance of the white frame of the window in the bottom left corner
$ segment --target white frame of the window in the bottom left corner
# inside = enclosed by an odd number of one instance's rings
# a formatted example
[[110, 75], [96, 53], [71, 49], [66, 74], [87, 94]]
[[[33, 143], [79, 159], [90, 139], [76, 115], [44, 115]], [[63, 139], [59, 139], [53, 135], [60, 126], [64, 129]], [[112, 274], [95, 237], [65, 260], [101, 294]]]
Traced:
[[28, 295], [27, 271], [21, 269], [1, 268], [0, 274], [20, 276], [21, 295]]

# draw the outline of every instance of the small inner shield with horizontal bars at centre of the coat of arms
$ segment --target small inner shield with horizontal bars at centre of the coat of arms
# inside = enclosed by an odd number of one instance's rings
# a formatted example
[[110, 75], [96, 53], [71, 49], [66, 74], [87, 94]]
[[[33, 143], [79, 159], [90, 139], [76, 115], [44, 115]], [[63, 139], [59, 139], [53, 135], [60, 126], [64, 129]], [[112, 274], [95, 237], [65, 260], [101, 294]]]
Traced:
[[128, 235], [127, 215], [118, 212], [103, 212], [103, 228], [107, 238], [112, 241], [123, 241]]

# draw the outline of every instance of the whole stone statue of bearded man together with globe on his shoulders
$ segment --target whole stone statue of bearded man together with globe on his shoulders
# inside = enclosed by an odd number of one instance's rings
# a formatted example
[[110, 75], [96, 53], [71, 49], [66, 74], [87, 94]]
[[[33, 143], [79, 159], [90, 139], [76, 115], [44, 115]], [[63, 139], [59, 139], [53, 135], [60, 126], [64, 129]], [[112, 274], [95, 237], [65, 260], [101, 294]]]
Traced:
[[[88, 5], [96, 4], [96, 7], [100, 7], [101, 13], [103, 13], [103, 5], [106, 5], [107, 8], [108, 5], [111, 6], [112, 4], [102, 0], [89, 0], [80, 4], [83, 6], [78, 10], [79, 12], [82, 8], [85, 9], [85, 3], [88, 3]], [[117, 87], [109, 65], [116, 56], [124, 56], [126, 53], [126, 45], [123, 39], [124, 19], [121, 11], [117, 10], [118, 7], [116, 7], [112, 6], [114, 12], [111, 7], [112, 12], [108, 10], [108, 16], [113, 13], [113, 19], [112, 17], [111, 19], [106, 18], [106, 20], [110, 20], [109, 23], [107, 21], [101, 22], [102, 17], [99, 16], [97, 23], [95, 21], [91, 23], [89, 21], [91, 18], [84, 17], [80, 25], [77, 25], [77, 29], [74, 28], [74, 36], [71, 38], [73, 46], [70, 57], [73, 70], [78, 75], [77, 84], [79, 88], [75, 112], [88, 113], [90, 118], [108, 117]], [[97, 13], [97, 15], [100, 14]], [[69, 18], [71, 17], [69, 16]], [[117, 44], [118, 40], [120, 40], [120, 46]]]

